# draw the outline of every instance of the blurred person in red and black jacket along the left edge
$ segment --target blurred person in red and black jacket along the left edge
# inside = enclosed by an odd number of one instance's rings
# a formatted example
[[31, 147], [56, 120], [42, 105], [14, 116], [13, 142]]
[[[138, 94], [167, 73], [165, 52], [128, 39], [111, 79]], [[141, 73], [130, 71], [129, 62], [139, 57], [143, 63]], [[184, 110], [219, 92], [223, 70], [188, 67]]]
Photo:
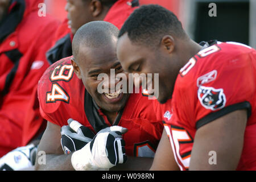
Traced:
[[[30, 128], [26, 134], [23, 131], [29, 123], [43, 121], [39, 109], [34, 108], [38, 105], [36, 87], [49, 66], [46, 51], [59, 26], [59, 22], [48, 15], [39, 17], [38, 5], [42, 2], [0, 1], [0, 157], [26, 145], [40, 133], [40, 127]], [[33, 147], [28, 147], [28, 151]], [[15, 153], [6, 156], [14, 164], [13, 168], [5, 166], [1, 159], [0, 169], [16, 169], [23, 160], [26, 163], [30, 160], [30, 152]]]

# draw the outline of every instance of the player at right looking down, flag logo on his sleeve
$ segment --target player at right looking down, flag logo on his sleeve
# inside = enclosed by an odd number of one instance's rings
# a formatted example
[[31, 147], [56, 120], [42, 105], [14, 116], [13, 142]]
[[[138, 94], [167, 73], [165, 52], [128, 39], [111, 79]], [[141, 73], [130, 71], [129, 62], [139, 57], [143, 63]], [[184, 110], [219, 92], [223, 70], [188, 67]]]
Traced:
[[159, 73], [166, 132], [151, 169], [177, 169], [174, 159], [182, 170], [256, 169], [255, 49], [197, 44], [171, 11], [148, 5], [121, 28], [117, 56], [127, 72]]

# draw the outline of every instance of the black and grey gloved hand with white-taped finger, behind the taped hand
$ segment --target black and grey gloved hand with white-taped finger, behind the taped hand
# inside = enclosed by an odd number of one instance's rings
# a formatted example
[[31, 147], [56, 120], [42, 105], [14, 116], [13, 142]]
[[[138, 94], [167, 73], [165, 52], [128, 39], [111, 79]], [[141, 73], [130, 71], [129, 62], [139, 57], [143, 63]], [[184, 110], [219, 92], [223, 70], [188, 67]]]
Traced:
[[92, 141], [94, 134], [88, 127], [81, 125], [74, 119], [68, 119], [68, 125], [61, 127], [61, 146], [64, 154], [80, 150]]

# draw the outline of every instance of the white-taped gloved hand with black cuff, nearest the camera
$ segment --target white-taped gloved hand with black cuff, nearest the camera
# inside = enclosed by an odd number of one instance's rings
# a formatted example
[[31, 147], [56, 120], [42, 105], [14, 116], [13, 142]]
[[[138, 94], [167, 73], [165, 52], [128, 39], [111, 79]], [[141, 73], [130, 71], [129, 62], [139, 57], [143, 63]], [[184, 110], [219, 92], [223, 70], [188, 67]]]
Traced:
[[117, 164], [125, 163], [125, 141], [122, 134], [127, 132], [121, 126], [112, 126], [102, 129], [81, 150], [72, 154], [71, 162], [74, 169], [79, 171], [112, 168]]

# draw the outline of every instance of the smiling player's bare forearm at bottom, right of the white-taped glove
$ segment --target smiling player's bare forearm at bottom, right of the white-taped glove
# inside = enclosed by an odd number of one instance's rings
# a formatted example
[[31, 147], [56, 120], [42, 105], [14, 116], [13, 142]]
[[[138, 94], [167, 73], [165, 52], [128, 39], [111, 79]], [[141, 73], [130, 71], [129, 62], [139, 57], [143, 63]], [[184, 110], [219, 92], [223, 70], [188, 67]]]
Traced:
[[110, 170], [117, 171], [148, 171], [152, 165], [153, 158], [137, 158], [133, 156], [127, 156], [127, 162], [125, 164], [118, 164]]

